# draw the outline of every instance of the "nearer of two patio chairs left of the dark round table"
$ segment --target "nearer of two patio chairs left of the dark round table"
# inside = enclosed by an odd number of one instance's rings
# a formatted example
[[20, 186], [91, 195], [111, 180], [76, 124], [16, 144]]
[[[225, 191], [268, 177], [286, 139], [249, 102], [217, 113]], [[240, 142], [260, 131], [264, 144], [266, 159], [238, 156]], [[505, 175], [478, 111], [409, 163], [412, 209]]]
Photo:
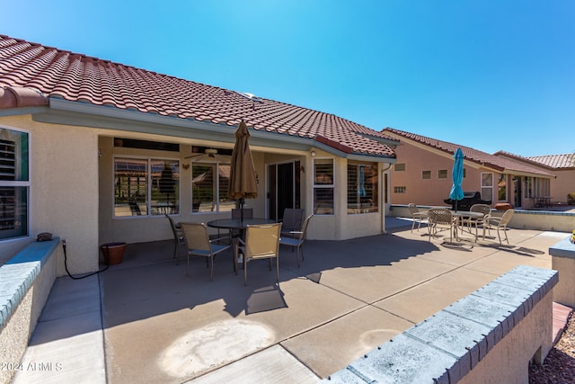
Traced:
[[[210, 240], [208, 227], [204, 223], [180, 223], [180, 226], [186, 247], [188, 248], [188, 269], [186, 270], [186, 275], [190, 276], [190, 256], [206, 257], [206, 263], [208, 263], [209, 260], [210, 263], [208, 266], [211, 266], [209, 280], [212, 280], [212, 276], [214, 275], [214, 257], [226, 251], [226, 249], [232, 249], [231, 238], [218, 237]], [[230, 244], [215, 244], [223, 239], [230, 239]]]

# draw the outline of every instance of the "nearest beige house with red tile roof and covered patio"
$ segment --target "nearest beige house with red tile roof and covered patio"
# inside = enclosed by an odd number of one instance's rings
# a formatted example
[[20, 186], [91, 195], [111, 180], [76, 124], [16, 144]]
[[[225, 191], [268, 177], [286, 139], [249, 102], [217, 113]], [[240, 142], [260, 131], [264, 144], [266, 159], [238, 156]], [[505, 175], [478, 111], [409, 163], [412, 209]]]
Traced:
[[90, 272], [102, 243], [171, 238], [164, 213], [229, 217], [242, 120], [259, 180], [246, 201], [254, 215], [304, 208], [315, 239], [385, 232], [397, 140], [329, 113], [0, 35], [0, 263], [49, 231], [66, 238], [71, 271]]

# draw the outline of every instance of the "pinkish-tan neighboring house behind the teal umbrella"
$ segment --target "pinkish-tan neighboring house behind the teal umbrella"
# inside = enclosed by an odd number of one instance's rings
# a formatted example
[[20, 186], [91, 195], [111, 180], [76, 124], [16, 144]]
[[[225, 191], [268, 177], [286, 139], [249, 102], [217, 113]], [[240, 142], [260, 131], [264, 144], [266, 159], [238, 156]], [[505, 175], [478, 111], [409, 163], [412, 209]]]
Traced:
[[458, 147], [464, 153], [464, 192], [481, 192], [482, 200], [491, 201], [493, 206], [509, 202], [516, 208], [531, 208], [535, 197], [552, 193], [554, 174], [541, 166], [399, 129], [386, 128], [382, 133], [401, 141], [395, 148], [397, 163], [391, 174], [394, 204], [445, 206], [453, 184], [453, 154]]

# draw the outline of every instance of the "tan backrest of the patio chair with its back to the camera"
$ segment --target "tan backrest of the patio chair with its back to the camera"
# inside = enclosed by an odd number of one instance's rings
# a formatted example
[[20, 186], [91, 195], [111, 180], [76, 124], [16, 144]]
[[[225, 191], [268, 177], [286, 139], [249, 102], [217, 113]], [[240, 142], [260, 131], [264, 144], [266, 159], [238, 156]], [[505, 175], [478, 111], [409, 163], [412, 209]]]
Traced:
[[245, 257], [248, 259], [277, 257], [281, 223], [247, 226], [245, 229]]

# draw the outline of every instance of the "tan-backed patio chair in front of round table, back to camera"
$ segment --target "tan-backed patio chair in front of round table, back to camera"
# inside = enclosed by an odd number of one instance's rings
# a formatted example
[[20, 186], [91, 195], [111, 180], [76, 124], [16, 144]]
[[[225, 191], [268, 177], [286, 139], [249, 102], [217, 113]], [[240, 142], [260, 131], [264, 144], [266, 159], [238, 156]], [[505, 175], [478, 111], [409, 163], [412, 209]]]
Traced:
[[[247, 263], [252, 260], [276, 259], [276, 281], [279, 281], [279, 233], [281, 223], [247, 226], [245, 241], [237, 238], [238, 249], [235, 252], [243, 254], [243, 285], [248, 283]], [[237, 257], [234, 256], [234, 260]]]

